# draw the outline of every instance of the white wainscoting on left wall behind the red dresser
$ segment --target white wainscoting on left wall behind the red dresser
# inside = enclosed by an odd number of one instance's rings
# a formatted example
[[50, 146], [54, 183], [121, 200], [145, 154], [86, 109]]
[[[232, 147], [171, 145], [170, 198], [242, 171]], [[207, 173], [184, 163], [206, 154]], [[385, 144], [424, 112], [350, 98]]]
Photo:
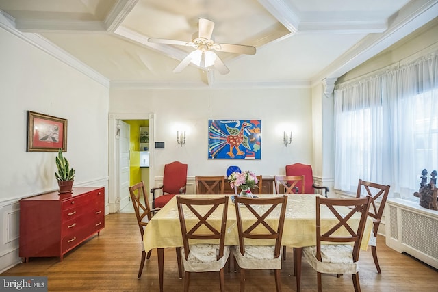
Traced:
[[[105, 215], [109, 213], [108, 207], [108, 178], [78, 183], [74, 187], [105, 187]], [[31, 196], [35, 196], [34, 194]], [[29, 197], [29, 196], [27, 196]], [[21, 198], [0, 201], [0, 273], [21, 263], [18, 255], [20, 237], [20, 204]], [[103, 229], [105, 232], [105, 229]]]

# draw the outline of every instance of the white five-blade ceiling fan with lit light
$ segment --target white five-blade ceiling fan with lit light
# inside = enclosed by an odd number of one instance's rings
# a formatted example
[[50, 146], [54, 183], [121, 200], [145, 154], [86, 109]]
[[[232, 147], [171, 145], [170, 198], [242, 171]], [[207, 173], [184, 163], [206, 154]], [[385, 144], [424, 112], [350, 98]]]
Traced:
[[164, 38], [148, 38], [149, 42], [157, 44], [177, 44], [179, 46], [193, 47], [192, 51], [185, 57], [181, 63], [173, 70], [174, 73], [181, 72], [190, 62], [207, 68], [214, 66], [220, 74], [227, 74], [230, 70], [225, 66], [224, 62], [216, 55], [214, 51], [254, 55], [255, 47], [246, 46], [244, 44], [217, 44], [211, 39], [213, 34], [214, 22], [207, 18], [199, 18], [198, 32], [192, 36], [192, 42], [183, 40], [167, 40]]

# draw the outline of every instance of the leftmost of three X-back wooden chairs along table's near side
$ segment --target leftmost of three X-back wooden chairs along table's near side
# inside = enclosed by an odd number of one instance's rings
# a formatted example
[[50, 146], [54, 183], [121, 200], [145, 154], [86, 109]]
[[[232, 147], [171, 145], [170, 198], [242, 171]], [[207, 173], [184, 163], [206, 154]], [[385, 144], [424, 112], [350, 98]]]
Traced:
[[[177, 207], [183, 236], [184, 291], [189, 291], [190, 273], [205, 271], [219, 271], [220, 291], [224, 291], [224, 265], [230, 255], [229, 246], [224, 245], [228, 196], [205, 199], [177, 196]], [[209, 221], [215, 212], [222, 218], [219, 228]], [[192, 240], [197, 243], [190, 244]], [[203, 240], [207, 243], [199, 243]], [[211, 240], [217, 243], [211, 244]]]

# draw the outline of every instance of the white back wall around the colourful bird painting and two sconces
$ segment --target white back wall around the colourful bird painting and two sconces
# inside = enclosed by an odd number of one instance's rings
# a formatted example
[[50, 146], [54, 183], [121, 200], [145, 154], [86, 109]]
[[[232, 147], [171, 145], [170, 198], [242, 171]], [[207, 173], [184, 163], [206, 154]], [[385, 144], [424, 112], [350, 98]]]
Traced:
[[[188, 163], [188, 176], [225, 175], [229, 165], [256, 174], [284, 174], [285, 165], [312, 162], [312, 117], [310, 88], [245, 89], [126, 89], [112, 88], [110, 112], [153, 113], [155, 141], [165, 142], [155, 150], [155, 176], [164, 164]], [[207, 159], [209, 119], [260, 119], [261, 160]], [[292, 144], [283, 144], [284, 126], [292, 125]], [[185, 127], [183, 147], [176, 142], [179, 126]]]

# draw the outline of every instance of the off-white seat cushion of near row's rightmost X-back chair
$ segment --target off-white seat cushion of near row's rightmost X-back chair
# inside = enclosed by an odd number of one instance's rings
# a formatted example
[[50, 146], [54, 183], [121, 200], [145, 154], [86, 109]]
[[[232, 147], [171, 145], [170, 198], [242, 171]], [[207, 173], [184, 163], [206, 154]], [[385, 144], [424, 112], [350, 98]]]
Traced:
[[353, 262], [352, 245], [321, 245], [322, 262], [316, 259], [316, 246], [302, 248], [302, 255], [320, 273], [356, 274], [359, 271], [359, 263]]

